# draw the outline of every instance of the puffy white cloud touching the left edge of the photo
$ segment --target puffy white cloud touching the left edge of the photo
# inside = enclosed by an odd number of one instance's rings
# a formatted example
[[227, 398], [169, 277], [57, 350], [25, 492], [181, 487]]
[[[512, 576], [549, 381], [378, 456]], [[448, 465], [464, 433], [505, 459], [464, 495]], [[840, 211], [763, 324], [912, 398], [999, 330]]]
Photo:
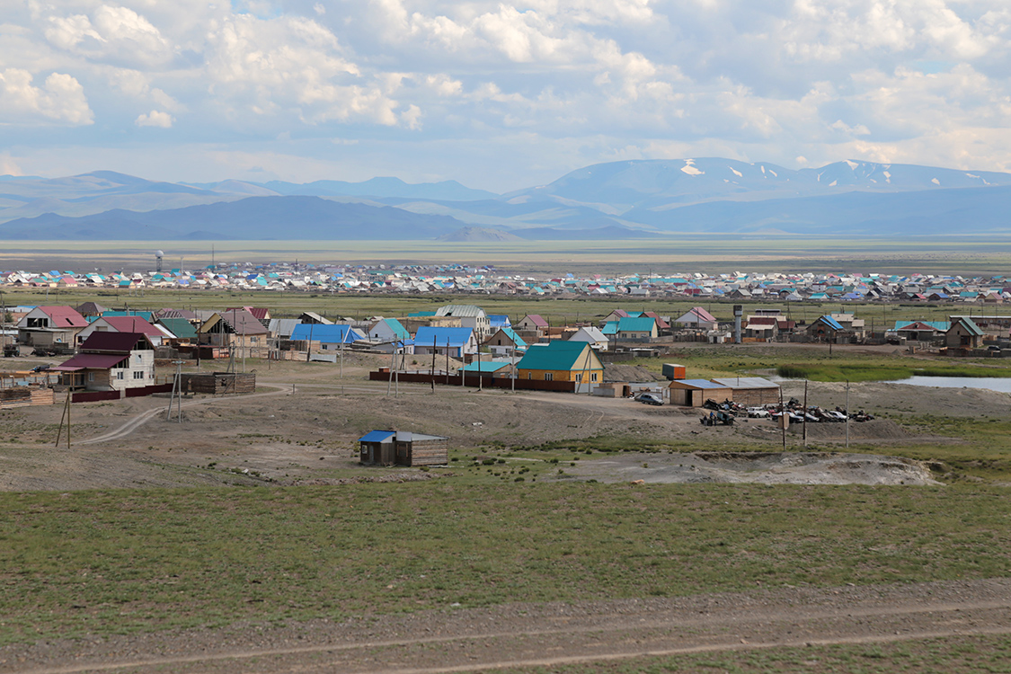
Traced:
[[80, 126], [94, 121], [84, 88], [70, 75], [53, 73], [41, 87], [32, 81], [31, 73], [25, 70], [8, 68], [0, 72], [0, 123]]

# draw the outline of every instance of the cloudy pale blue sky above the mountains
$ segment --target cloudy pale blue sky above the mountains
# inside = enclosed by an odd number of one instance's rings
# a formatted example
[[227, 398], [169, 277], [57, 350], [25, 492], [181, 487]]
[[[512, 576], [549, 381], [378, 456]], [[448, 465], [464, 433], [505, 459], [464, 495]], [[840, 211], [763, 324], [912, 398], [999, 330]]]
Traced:
[[0, 0], [0, 174], [1011, 171], [1008, 0]]

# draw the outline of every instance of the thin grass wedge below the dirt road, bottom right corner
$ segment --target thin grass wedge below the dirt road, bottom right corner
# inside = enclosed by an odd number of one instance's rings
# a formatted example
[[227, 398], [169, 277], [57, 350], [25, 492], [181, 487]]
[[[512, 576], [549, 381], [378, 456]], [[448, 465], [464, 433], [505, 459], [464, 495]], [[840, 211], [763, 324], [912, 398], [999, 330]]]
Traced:
[[756, 648], [725, 653], [639, 657], [604, 663], [497, 670], [503, 674], [902, 674], [1011, 672], [1011, 637], [910, 639], [882, 644]]

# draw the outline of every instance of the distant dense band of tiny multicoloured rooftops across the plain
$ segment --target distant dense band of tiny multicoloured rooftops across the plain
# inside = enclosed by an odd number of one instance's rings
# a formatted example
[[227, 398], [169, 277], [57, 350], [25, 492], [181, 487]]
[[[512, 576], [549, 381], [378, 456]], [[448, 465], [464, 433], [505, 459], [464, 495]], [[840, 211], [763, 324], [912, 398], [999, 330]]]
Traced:
[[1005, 276], [746, 273], [525, 276], [492, 266], [218, 264], [147, 273], [3, 271], [0, 287], [144, 288], [333, 293], [499, 294], [554, 297], [630, 295], [774, 301], [962, 301], [1011, 299]]

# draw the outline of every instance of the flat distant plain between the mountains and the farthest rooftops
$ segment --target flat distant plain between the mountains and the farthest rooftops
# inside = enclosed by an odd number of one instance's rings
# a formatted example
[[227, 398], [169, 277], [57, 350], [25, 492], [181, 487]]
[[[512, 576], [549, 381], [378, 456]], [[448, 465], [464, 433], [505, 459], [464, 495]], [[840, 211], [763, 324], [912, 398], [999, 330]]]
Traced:
[[[1011, 237], [909, 238], [798, 235], [677, 234], [657, 239], [600, 242], [4, 242], [0, 267], [145, 271], [154, 251], [166, 266], [215, 262], [495, 265], [514, 273], [662, 274], [741, 271], [994, 275], [1007, 272]], [[40, 266], [40, 267], [39, 267]]]

